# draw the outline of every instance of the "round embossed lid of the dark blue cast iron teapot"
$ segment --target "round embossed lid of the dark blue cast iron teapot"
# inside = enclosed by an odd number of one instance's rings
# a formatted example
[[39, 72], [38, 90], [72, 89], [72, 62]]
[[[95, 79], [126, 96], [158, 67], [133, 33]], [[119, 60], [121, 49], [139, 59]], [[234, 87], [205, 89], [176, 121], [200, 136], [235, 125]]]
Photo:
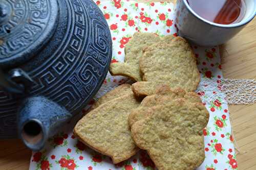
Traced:
[[52, 37], [58, 19], [56, 0], [0, 2], [0, 67], [25, 63]]

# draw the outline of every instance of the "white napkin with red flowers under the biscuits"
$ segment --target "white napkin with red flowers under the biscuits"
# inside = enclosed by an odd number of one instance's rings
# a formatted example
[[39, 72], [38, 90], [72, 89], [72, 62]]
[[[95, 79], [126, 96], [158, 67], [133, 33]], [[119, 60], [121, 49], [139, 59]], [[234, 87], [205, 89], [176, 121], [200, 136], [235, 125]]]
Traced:
[[[124, 47], [132, 35], [137, 32], [153, 32], [159, 36], [173, 34], [177, 36], [174, 23], [175, 11], [172, 3], [136, 3], [134, 1], [95, 1], [104, 13], [113, 40], [112, 62], [123, 62]], [[221, 93], [222, 71], [218, 46], [200, 47], [192, 45], [198, 59], [201, 83], [198, 94], [210, 113], [205, 136], [205, 161], [197, 169], [227, 170], [237, 169], [233, 147], [233, 137], [229, 122], [229, 113], [225, 96]], [[127, 82], [124, 77], [106, 77], [102, 88], [95, 98]], [[83, 112], [88, 109], [85, 108]], [[33, 152], [30, 170], [42, 169], [156, 169], [145, 151], [140, 151], [131, 159], [113, 164], [108, 156], [101, 155], [78, 141], [73, 133], [77, 115], [72, 122], [63, 127], [58, 134], [50, 138], [45, 149]]]

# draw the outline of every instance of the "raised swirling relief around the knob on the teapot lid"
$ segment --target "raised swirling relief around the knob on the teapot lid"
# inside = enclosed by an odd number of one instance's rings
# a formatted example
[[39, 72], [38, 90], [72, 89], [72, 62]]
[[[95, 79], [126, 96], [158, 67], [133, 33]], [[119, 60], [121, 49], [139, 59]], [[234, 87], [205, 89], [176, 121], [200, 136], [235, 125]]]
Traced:
[[[11, 16], [7, 23], [0, 26], [0, 61], [24, 57], [27, 48], [40, 41], [51, 25], [50, 0], [6, 0], [11, 9]], [[56, 17], [56, 16], [54, 16]]]

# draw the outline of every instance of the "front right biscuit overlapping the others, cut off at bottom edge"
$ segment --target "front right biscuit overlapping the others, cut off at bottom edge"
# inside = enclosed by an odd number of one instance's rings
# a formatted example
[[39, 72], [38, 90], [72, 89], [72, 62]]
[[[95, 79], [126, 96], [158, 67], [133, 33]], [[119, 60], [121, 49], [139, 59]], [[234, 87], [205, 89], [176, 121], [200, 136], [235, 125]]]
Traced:
[[132, 126], [132, 137], [159, 170], [193, 170], [204, 161], [203, 128], [209, 113], [203, 104], [175, 99], [144, 114]]

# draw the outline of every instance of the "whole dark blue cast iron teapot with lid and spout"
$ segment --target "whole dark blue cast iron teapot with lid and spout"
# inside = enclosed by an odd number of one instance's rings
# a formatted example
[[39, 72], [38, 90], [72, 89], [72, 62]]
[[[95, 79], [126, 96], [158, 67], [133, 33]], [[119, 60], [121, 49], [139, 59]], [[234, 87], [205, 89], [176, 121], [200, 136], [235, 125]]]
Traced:
[[0, 0], [0, 138], [42, 149], [92, 99], [111, 57], [92, 0]]

